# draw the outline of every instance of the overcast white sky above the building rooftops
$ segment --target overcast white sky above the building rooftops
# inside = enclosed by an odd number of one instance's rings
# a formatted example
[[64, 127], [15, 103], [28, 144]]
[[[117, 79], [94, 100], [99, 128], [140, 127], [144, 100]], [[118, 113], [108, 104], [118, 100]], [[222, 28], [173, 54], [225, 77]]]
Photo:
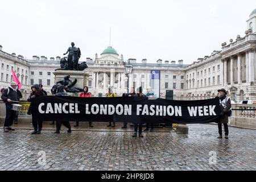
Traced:
[[27, 59], [49, 59], [75, 42], [82, 61], [109, 46], [111, 26], [111, 46], [125, 60], [190, 64], [244, 36], [254, 9], [255, 0], [0, 0], [0, 44]]

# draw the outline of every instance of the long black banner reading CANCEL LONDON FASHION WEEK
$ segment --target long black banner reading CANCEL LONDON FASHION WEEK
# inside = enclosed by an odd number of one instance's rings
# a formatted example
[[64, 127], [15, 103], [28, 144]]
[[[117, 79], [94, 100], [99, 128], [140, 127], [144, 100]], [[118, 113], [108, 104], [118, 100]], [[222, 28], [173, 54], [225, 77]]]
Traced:
[[43, 121], [209, 123], [218, 121], [220, 100], [170, 101], [144, 97], [42, 96], [31, 103]]

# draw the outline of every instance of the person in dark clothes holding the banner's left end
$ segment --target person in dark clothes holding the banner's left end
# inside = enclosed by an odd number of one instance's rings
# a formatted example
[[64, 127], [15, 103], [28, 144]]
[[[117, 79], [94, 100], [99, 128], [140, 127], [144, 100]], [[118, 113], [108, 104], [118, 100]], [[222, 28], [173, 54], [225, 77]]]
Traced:
[[[31, 86], [31, 90], [32, 90], [32, 93], [27, 99], [28, 102], [33, 102], [34, 98], [36, 97], [44, 96], [44, 93], [40, 91], [38, 84]], [[31, 107], [31, 104], [30, 104], [30, 107], [28, 108], [28, 113], [27, 113], [29, 115], [32, 114], [32, 125], [34, 127], [34, 131], [31, 133], [32, 135], [41, 134], [42, 127], [43, 127], [42, 119], [35, 116], [35, 109], [36, 108]]]

